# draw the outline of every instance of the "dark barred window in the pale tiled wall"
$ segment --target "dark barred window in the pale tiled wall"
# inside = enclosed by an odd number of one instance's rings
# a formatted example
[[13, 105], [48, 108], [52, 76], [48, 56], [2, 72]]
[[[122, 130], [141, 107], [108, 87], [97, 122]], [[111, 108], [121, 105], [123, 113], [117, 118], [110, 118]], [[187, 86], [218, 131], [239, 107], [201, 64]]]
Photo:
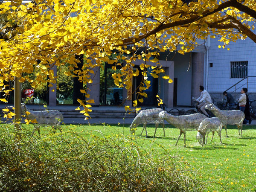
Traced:
[[248, 75], [248, 61], [231, 61], [231, 78], [244, 78]]

